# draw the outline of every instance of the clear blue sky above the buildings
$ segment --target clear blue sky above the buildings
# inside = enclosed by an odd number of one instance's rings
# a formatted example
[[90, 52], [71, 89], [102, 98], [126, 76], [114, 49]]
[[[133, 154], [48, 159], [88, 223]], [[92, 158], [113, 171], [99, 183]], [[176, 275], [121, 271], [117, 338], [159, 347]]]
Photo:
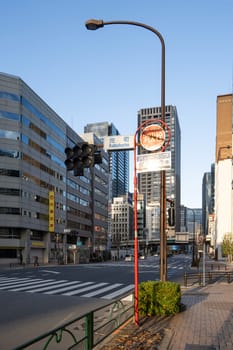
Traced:
[[20, 76], [78, 133], [109, 121], [129, 135], [139, 109], [160, 106], [160, 41], [135, 26], [88, 31], [89, 18], [142, 22], [162, 34], [166, 104], [177, 107], [182, 133], [181, 201], [201, 207], [216, 97], [232, 93], [233, 1], [1, 0], [0, 71]]

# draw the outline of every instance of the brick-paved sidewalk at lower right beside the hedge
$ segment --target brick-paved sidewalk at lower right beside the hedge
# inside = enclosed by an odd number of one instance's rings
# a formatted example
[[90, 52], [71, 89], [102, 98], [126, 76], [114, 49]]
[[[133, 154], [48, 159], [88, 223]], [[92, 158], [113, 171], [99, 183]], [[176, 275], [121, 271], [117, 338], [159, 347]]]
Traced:
[[[183, 289], [183, 288], [182, 288]], [[233, 283], [219, 281], [183, 290], [186, 310], [167, 325], [167, 350], [233, 349]]]

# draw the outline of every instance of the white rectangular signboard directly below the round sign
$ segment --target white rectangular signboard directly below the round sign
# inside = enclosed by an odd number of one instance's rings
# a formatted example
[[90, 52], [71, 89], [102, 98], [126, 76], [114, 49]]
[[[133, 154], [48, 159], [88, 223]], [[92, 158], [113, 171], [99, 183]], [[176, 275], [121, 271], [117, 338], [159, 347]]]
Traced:
[[170, 170], [171, 152], [140, 154], [136, 159], [136, 170], [138, 173], [152, 171]]

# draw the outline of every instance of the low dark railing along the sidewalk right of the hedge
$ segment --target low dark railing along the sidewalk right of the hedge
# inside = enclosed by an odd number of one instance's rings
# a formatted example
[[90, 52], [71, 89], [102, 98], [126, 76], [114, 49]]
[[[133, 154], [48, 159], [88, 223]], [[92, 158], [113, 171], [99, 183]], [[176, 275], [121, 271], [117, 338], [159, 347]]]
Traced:
[[190, 281], [191, 285], [198, 283], [199, 285], [203, 284], [203, 277], [205, 277], [206, 283], [213, 283], [219, 279], [225, 278], [227, 283], [231, 283], [233, 280], [233, 271], [207, 271], [205, 274], [203, 272], [197, 273], [184, 273], [184, 286], [188, 286]]

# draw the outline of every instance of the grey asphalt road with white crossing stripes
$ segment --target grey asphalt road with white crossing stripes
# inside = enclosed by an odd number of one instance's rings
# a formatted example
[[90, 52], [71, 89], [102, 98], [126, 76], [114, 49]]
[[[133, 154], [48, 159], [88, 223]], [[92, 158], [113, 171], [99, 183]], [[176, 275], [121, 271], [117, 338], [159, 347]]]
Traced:
[[[168, 258], [168, 279], [191, 257]], [[159, 279], [159, 257], [139, 261], [139, 282]], [[0, 269], [0, 349], [45, 333], [134, 289], [133, 262]]]

